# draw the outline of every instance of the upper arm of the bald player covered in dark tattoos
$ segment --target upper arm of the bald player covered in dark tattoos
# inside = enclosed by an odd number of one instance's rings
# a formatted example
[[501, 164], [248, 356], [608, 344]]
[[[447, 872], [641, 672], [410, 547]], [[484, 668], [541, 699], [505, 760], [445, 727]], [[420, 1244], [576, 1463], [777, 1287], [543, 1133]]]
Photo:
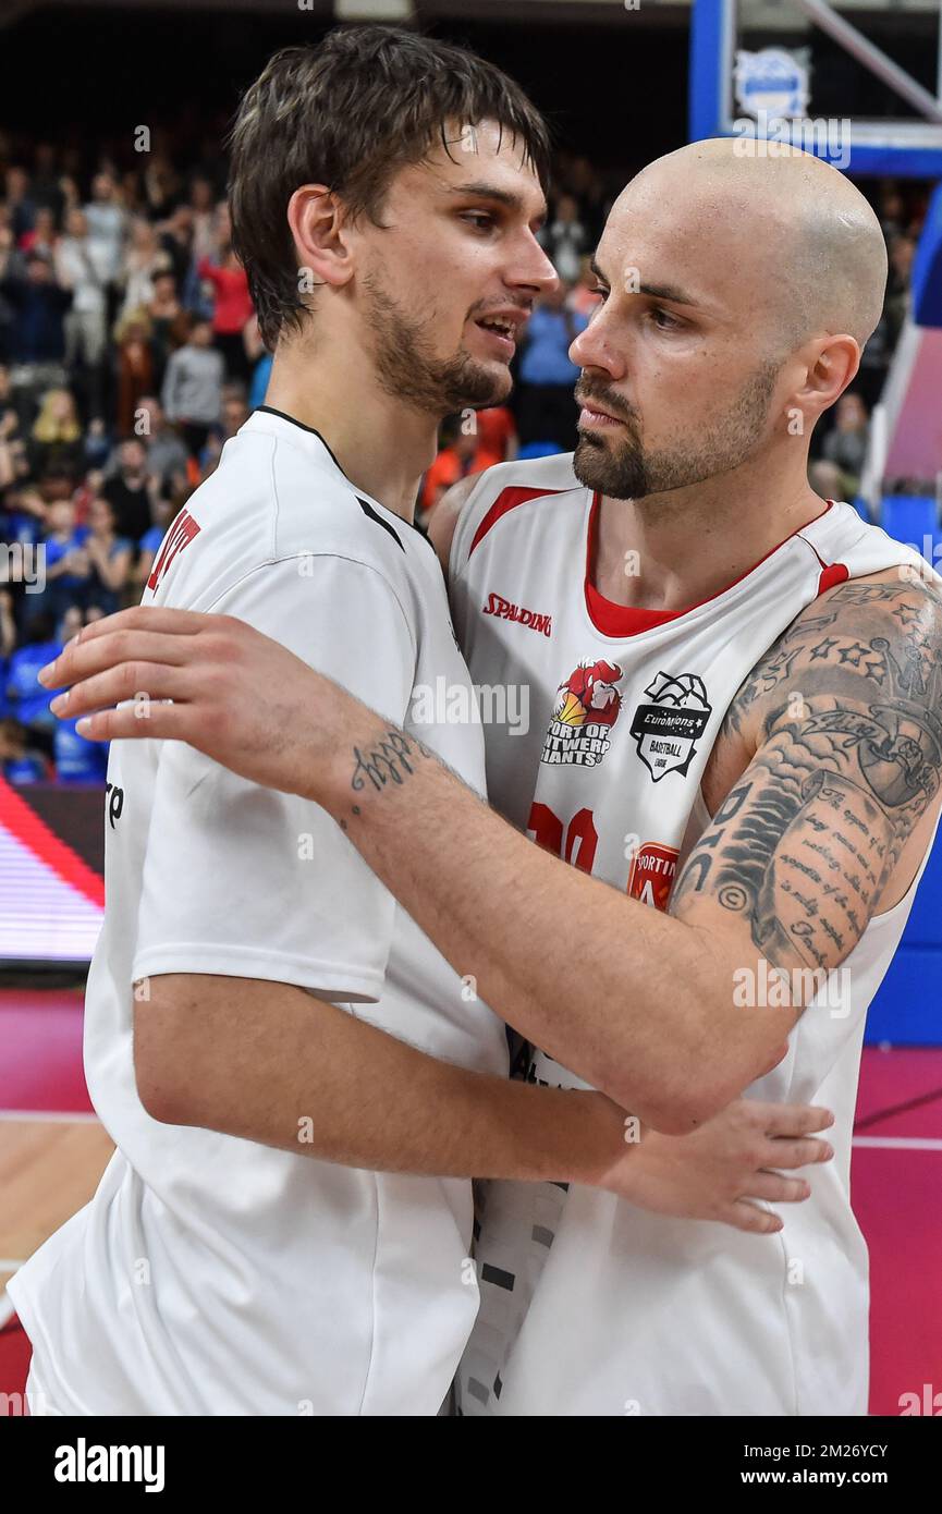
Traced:
[[757, 662], [722, 733], [756, 757], [671, 908], [692, 917], [713, 899], [775, 966], [836, 967], [942, 780], [942, 597], [922, 583], [833, 589]]

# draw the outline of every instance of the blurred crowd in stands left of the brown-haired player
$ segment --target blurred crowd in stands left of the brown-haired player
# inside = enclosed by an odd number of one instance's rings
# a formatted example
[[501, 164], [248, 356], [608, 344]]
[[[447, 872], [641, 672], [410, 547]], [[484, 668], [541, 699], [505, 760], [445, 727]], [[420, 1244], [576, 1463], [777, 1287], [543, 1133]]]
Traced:
[[[133, 604], [223, 445], [265, 395], [224, 164], [82, 176], [71, 148], [0, 170], [0, 772], [100, 780], [36, 671]], [[5, 162], [6, 157], [6, 162]]]

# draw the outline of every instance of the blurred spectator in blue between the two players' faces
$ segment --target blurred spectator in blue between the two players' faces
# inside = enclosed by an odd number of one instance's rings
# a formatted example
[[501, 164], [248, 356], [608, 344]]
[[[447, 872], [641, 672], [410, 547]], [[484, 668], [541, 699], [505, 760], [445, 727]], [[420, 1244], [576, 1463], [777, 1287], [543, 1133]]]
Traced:
[[579, 368], [569, 347], [589, 324], [585, 315], [566, 309], [566, 285], [541, 297], [522, 338], [516, 428], [519, 442], [554, 442], [560, 453], [579, 441], [579, 407], [572, 397]]

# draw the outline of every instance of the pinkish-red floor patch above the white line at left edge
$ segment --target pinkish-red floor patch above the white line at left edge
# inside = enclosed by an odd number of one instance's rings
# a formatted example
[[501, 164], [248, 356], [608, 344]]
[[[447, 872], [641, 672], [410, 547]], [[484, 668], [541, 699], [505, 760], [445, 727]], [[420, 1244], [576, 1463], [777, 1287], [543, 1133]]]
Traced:
[[5, 1110], [91, 1111], [82, 1070], [82, 990], [0, 990]]

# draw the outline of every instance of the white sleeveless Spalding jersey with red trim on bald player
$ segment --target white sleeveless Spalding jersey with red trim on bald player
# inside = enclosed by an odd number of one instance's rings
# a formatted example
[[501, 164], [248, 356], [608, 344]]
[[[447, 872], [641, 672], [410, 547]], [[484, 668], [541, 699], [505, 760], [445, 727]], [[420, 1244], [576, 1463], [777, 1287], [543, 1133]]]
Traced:
[[[847, 504], [725, 590], [669, 613], [613, 606], [586, 565], [598, 501], [571, 456], [482, 475], [454, 536], [451, 604], [482, 702], [521, 686], [529, 728], [489, 725], [491, 802], [566, 861], [666, 908], [710, 818], [700, 781], [725, 710], [824, 589], [925, 563]], [[518, 690], [519, 698], [519, 690]], [[522, 724], [522, 722], [519, 722]], [[834, 1111], [812, 1198], [756, 1237], [563, 1184], [491, 1182], [463, 1414], [863, 1414], [868, 1257], [850, 1204], [863, 1022], [915, 895], [877, 916], [751, 1098]], [[572, 939], [572, 977], [606, 942]], [[850, 984], [850, 989], [848, 989]], [[632, 984], [624, 984], [625, 998]], [[585, 1087], [535, 1052], [529, 1076]]]

